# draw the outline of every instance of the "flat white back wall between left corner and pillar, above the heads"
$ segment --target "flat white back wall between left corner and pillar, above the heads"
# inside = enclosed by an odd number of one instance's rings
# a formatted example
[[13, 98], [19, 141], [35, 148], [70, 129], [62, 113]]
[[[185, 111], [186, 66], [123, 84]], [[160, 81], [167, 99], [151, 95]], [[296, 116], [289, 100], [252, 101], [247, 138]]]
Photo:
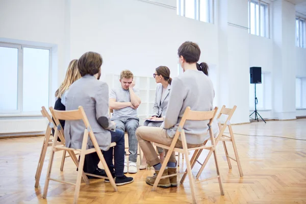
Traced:
[[73, 1], [70, 28], [71, 57], [78, 58], [89, 50], [99, 52], [106, 73], [130, 69], [135, 75], [151, 76], [156, 67], [166, 65], [175, 76], [177, 48], [187, 40], [199, 44], [202, 61], [217, 63], [217, 29], [213, 24], [178, 16], [176, 10], [154, 4]]

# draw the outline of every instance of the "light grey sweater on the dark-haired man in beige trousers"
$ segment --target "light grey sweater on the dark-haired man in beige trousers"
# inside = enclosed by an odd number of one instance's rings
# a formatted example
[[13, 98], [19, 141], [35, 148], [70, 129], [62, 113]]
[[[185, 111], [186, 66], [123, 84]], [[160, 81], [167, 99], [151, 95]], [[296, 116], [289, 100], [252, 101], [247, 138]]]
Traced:
[[[213, 83], [207, 75], [198, 70], [186, 70], [172, 80], [166, 117], [161, 127], [167, 129], [168, 136], [173, 138], [185, 109], [189, 106], [192, 111], [211, 111], [214, 95]], [[202, 144], [208, 139], [208, 123], [209, 120], [186, 120], [187, 143]]]

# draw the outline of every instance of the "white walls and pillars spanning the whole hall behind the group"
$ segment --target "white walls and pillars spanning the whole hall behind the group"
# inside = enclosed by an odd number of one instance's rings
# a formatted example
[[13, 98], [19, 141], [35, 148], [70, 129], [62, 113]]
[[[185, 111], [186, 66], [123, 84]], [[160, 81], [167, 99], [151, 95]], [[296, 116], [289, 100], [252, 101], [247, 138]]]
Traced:
[[[55, 88], [63, 80], [69, 61], [88, 51], [103, 56], [104, 75], [131, 69], [135, 75], [150, 77], [157, 66], [166, 65], [175, 77], [177, 48], [186, 40], [195, 41], [201, 48], [200, 61], [212, 65], [217, 105], [237, 105], [232, 122], [249, 121], [250, 66], [272, 72], [273, 111], [260, 112], [262, 116], [273, 118], [274, 112], [295, 112], [292, 82], [295, 75], [306, 77], [306, 49], [295, 47], [292, 37], [293, 5], [284, 0], [270, 3], [274, 13], [268, 39], [241, 28], [248, 24], [247, 1], [216, 0], [214, 24], [176, 15], [171, 8], [174, 0], [158, 2], [170, 7], [138, 0], [0, 0], [0, 41], [54, 46]], [[276, 16], [281, 19], [278, 27]], [[281, 71], [276, 73], [279, 67]], [[275, 89], [288, 81], [285, 76], [289, 76], [290, 86]]]

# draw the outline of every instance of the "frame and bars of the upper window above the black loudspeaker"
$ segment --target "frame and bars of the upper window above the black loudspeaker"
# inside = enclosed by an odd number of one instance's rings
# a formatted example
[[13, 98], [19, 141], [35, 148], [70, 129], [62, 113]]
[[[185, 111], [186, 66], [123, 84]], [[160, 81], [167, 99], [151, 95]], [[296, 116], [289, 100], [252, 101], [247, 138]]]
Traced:
[[[251, 33], [251, 3], [254, 3], [255, 4], [255, 34], [252, 34]], [[258, 35], [257, 35], [257, 19], [256, 19], [256, 5], [257, 5], [257, 3], [258, 3], [258, 15], [259, 15], [259, 24], [258, 24], [258, 29], [259, 29], [259, 31], [258, 31]], [[266, 35], [264, 35], [264, 36], [261, 36], [261, 3], [262, 4], [265, 4], [265, 5], [267, 5], [267, 11], [268, 11], [268, 19], [267, 19], [267, 23], [268, 23], [268, 26], [267, 26], [267, 31], [265, 30], [264, 31], [264, 33], [267, 33], [267, 36]], [[265, 37], [265, 38], [270, 38], [270, 4], [269, 3], [267, 3], [267, 2], [264, 2], [264, 1], [262, 1], [262, 0], [248, 0], [248, 33], [249, 34], [251, 34], [251, 35], [256, 35], [256, 36], [260, 36], [260, 37]]]

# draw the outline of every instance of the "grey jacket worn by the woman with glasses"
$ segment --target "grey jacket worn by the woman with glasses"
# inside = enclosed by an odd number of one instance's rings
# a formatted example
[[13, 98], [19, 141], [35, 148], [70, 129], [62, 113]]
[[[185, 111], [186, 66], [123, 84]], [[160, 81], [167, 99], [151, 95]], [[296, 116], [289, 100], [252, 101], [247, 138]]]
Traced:
[[168, 101], [169, 101], [169, 93], [170, 93], [171, 85], [169, 84], [168, 87], [165, 90], [165, 93], [163, 93], [163, 85], [159, 84], [156, 87], [156, 93], [155, 93], [155, 103], [153, 107], [153, 114], [152, 116], [157, 117], [165, 117], [166, 116], [166, 110], [168, 107]]

